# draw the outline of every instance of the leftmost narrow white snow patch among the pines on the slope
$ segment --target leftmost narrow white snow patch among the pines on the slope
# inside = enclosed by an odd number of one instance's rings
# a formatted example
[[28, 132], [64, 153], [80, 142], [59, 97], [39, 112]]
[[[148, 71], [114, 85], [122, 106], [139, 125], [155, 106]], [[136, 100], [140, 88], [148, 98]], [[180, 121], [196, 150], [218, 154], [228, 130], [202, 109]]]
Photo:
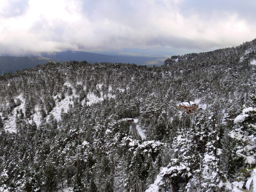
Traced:
[[16, 97], [16, 99], [20, 99], [20, 105], [14, 108], [12, 111], [12, 115], [8, 115], [8, 120], [4, 121], [4, 129], [8, 132], [17, 132], [16, 123], [15, 123], [17, 110], [22, 109], [24, 113], [24, 103], [25, 103], [24, 98], [20, 94], [18, 97]]

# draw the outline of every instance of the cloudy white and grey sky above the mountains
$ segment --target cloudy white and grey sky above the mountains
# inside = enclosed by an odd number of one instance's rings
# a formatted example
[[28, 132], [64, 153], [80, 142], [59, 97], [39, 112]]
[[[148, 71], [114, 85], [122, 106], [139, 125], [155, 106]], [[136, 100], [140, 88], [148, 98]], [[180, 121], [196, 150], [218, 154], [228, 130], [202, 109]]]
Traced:
[[256, 1], [1, 0], [0, 55], [172, 56], [253, 40]]

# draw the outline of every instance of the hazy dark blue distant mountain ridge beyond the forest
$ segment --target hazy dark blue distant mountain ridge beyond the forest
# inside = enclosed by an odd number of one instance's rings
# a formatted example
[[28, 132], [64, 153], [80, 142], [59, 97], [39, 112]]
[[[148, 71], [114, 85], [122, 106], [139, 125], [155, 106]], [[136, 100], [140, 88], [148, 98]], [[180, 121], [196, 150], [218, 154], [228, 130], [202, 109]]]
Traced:
[[0, 74], [15, 72], [24, 68], [33, 68], [36, 65], [45, 64], [49, 61], [88, 61], [88, 63], [134, 63], [136, 65], [163, 65], [165, 58], [150, 56], [110, 56], [83, 51], [43, 52], [40, 57], [36, 56], [0, 56]]

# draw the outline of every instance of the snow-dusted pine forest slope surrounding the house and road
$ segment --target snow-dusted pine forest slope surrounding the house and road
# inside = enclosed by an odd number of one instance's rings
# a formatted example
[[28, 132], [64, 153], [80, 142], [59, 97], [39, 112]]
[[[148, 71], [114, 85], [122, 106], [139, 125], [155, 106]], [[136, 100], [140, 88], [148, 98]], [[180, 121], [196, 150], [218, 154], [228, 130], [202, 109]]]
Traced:
[[[253, 188], [255, 63], [252, 41], [161, 67], [71, 61], [0, 76], [0, 189]], [[201, 109], [179, 111], [186, 100]]]

